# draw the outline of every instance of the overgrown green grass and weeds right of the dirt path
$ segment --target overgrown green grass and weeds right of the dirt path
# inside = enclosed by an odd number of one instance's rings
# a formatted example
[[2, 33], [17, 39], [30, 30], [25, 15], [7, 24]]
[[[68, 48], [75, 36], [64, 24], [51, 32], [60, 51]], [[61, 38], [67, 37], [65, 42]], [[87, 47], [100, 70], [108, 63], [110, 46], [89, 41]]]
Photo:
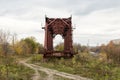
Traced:
[[120, 66], [105, 62], [88, 53], [77, 54], [72, 59], [49, 59], [47, 62], [43, 62], [42, 59], [40, 61], [37, 58], [32, 59], [32, 62], [33, 60], [40, 66], [77, 74], [94, 80], [120, 79]]

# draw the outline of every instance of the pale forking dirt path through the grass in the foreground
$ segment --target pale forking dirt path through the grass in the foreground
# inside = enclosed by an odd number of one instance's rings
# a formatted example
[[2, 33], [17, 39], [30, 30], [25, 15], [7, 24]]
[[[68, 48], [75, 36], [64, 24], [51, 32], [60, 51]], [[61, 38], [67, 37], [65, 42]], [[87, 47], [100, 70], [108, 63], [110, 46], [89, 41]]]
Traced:
[[38, 66], [38, 65], [35, 65], [35, 64], [26, 63], [26, 61], [28, 61], [28, 60], [29, 59], [20, 61], [20, 63], [22, 63], [23, 65], [25, 65], [27, 67], [30, 67], [33, 70], [35, 70], [35, 74], [34, 74], [32, 80], [40, 80], [40, 74], [39, 74], [38, 71], [43, 71], [46, 74], [48, 74], [46, 80], [53, 80], [54, 75], [58, 75], [58, 76], [61, 76], [61, 77], [72, 79], [72, 80], [92, 80], [92, 79], [80, 77], [78, 75], [72, 75], [72, 74], [69, 74], [69, 73], [59, 72], [57, 70], [44, 68], [44, 67], [41, 67], [41, 66]]

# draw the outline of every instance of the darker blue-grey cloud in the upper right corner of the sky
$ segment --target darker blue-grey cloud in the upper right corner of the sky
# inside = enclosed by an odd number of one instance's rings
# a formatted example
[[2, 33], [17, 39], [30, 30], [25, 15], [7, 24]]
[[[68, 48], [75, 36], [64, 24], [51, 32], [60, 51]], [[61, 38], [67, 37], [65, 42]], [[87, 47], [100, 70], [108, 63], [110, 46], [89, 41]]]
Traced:
[[[86, 3], [84, 3], [86, 4]], [[78, 6], [75, 15], [85, 15], [89, 14], [95, 10], [102, 10], [108, 8], [120, 7], [120, 0], [93, 0], [85, 9], [81, 10], [81, 7]]]

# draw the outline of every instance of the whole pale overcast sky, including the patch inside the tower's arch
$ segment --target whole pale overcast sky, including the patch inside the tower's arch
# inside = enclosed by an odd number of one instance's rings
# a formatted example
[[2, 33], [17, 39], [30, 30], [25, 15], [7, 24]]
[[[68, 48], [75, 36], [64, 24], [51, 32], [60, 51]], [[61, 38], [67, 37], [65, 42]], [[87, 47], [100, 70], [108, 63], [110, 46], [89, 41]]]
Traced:
[[[43, 44], [45, 14], [72, 15], [74, 43], [95, 46], [120, 38], [120, 0], [0, 0], [0, 29], [19, 39], [34, 36]], [[60, 36], [54, 39], [55, 44], [62, 41]]]

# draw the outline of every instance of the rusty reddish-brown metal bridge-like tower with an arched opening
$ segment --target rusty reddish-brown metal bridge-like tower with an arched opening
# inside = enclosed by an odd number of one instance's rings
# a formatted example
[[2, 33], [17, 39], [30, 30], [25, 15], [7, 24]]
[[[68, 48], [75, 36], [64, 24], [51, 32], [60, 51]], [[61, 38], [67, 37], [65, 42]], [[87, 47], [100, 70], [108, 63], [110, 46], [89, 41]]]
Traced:
[[[45, 17], [45, 41], [44, 41], [44, 57], [72, 57], [73, 46], [72, 46], [72, 22], [71, 17], [69, 18], [48, 18]], [[64, 50], [54, 51], [53, 38], [60, 34], [64, 39]]]

